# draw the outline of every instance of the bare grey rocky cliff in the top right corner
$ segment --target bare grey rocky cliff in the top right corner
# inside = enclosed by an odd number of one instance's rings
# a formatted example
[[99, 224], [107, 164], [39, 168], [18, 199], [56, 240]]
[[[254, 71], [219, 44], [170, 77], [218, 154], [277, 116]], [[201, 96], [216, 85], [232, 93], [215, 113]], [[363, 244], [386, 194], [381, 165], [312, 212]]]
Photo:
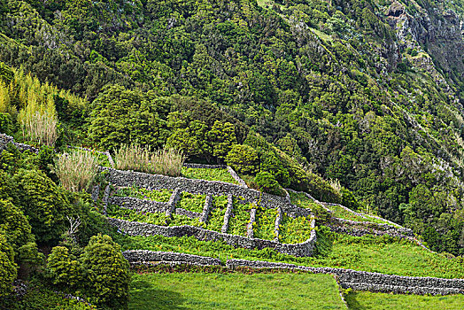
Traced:
[[446, 9], [446, 5], [440, 8], [414, 1], [409, 4], [406, 7], [405, 3], [393, 1], [385, 8], [387, 21], [396, 31], [400, 48], [417, 52], [406, 53], [406, 58], [428, 71], [449, 92], [448, 83], [459, 84], [464, 75], [460, 16]]

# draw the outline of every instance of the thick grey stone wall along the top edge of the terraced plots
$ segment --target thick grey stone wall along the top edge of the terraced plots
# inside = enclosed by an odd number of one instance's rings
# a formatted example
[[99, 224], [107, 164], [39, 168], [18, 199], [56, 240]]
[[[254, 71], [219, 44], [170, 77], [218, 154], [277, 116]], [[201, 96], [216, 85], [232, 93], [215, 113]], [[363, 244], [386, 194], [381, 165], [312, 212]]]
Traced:
[[187, 179], [160, 174], [144, 174], [105, 167], [101, 167], [101, 169], [108, 172], [107, 180], [117, 186], [129, 187], [136, 184], [149, 190], [179, 189], [193, 194], [228, 195], [230, 193], [236, 197], [243, 197], [249, 203], [260, 201], [261, 205], [268, 208], [289, 205], [286, 198], [261, 193], [259, 190], [251, 190], [227, 182]]

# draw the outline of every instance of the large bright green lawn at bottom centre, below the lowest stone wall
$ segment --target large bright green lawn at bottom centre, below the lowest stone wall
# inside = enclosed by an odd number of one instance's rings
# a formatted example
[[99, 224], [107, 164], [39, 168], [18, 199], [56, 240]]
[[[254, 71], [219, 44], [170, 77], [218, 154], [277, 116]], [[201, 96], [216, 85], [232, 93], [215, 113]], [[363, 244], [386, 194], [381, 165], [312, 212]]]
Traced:
[[345, 309], [331, 275], [134, 275], [131, 310]]

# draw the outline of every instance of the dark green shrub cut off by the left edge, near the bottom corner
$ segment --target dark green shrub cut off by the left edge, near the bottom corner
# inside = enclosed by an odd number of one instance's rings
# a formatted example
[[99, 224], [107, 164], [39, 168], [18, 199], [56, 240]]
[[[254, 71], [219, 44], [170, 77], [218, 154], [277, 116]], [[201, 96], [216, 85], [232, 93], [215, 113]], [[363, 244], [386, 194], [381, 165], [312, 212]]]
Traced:
[[0, 234], [0, 299], [12, 291], [12, 282], [16, 279], [17, 270], [14, 263], [12, 245]]

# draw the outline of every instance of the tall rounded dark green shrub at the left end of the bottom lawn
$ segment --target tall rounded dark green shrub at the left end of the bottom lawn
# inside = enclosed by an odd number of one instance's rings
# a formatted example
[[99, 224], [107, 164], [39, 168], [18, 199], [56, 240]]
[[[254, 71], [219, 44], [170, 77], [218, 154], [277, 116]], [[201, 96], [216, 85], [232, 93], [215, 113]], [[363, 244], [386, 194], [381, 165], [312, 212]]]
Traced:
[[128, 307], [129, 264], [111, 236], [92, 236], [81, 262], [87, 295], [92, 303], [112, 309]]

